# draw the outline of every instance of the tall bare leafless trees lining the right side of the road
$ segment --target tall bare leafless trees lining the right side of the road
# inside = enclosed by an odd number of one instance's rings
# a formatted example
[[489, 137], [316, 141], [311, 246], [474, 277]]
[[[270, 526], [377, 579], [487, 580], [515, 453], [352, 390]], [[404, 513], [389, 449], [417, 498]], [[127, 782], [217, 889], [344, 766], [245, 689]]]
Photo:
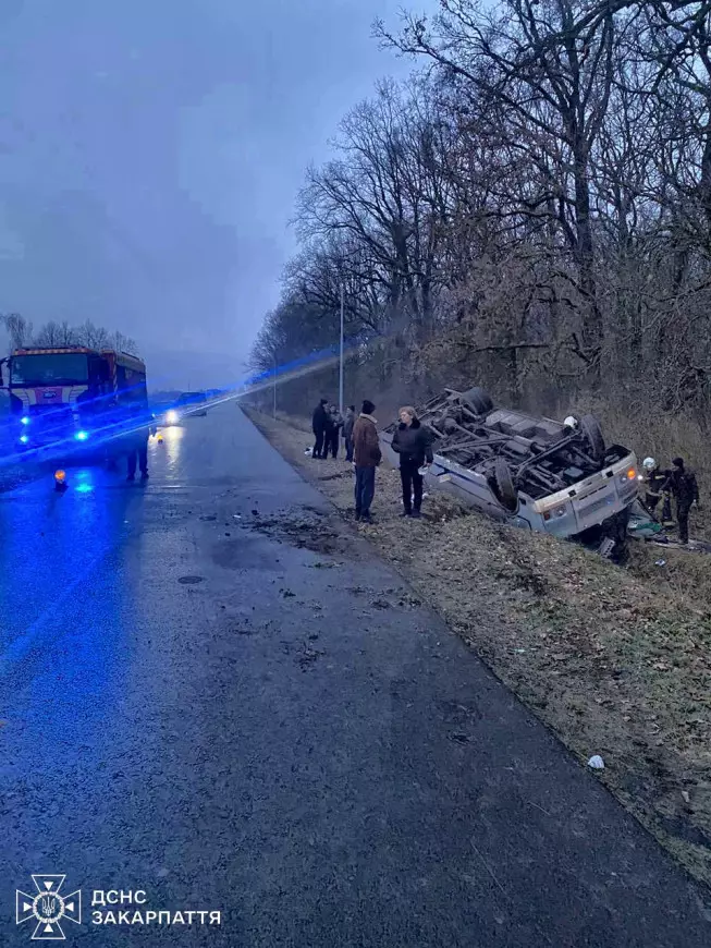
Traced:
[[375, 34], [421, 69], [308, 170], [255, 367], [336, 342], [343, 292], [383, 387], [547, 385], [704, 424], [711, 0], [441, 0]]

